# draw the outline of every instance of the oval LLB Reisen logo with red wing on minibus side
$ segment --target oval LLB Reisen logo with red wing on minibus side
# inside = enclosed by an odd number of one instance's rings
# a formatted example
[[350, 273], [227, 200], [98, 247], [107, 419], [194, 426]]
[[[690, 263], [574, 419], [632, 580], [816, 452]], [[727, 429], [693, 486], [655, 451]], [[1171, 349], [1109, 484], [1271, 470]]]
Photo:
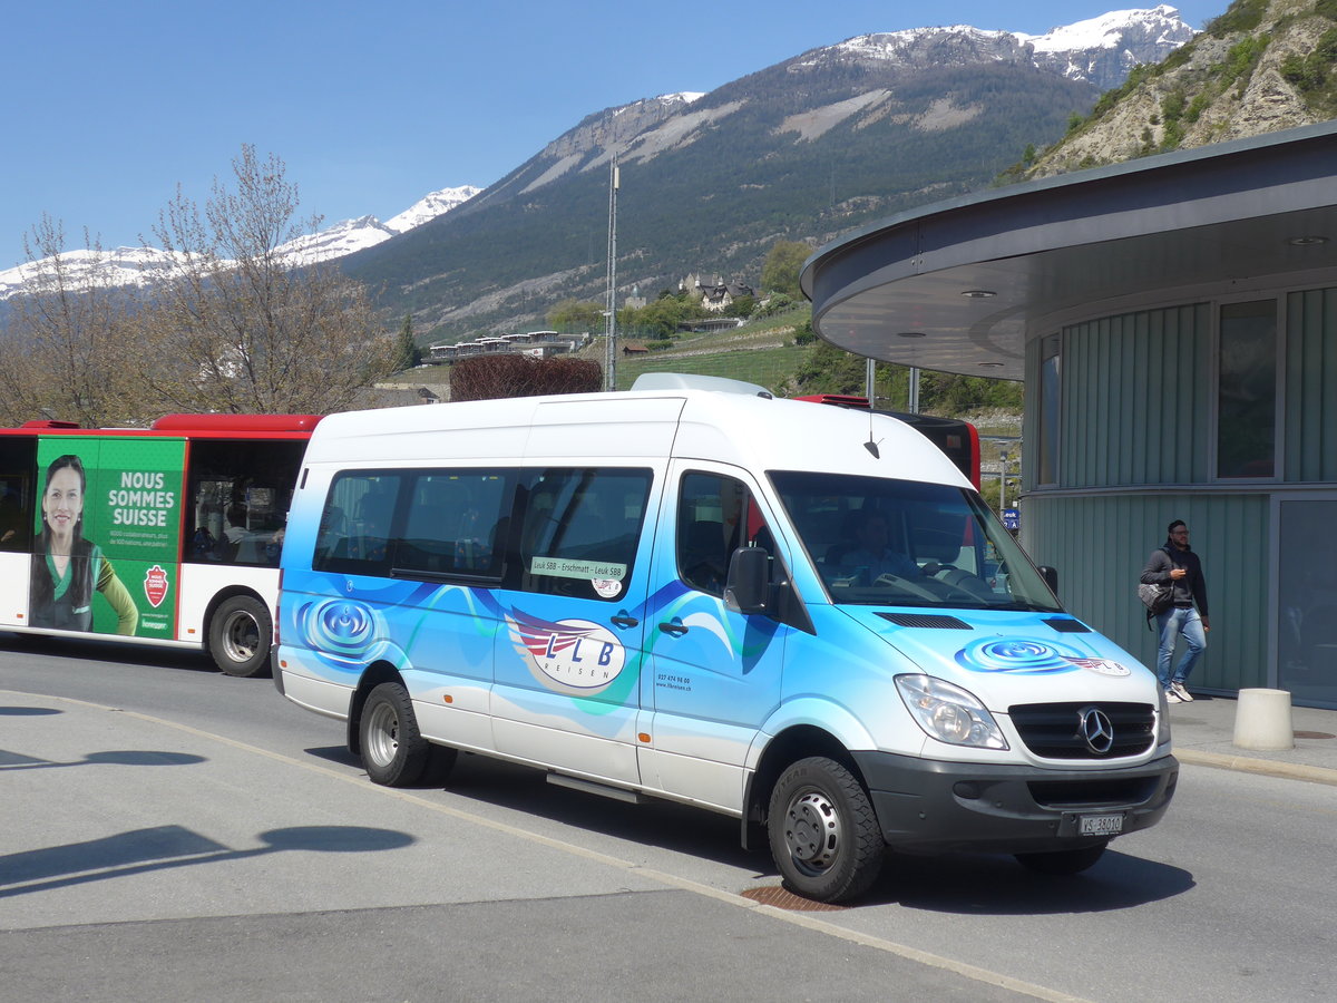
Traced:
[[622, 673], [626, 649], [612, 631], [590, 621], [541, 621], [519, 610], [508, 618], [516, 650], [533, 678], [558, 693], [590, 695], [606, 690]]

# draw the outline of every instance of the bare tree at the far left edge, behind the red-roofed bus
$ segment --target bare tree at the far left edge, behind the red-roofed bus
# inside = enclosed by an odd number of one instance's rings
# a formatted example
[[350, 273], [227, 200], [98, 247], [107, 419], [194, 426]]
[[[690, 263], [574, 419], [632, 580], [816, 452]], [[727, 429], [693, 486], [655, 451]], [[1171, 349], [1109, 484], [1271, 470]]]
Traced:
[[59, 221], [43, 215], [24, 235], [25, 290], [11, 297], [0, 366], [0, 420], [135, 421], [127, 358], [135, 340], [131, 290], [111, 277], [102, 246], [66, 250]]

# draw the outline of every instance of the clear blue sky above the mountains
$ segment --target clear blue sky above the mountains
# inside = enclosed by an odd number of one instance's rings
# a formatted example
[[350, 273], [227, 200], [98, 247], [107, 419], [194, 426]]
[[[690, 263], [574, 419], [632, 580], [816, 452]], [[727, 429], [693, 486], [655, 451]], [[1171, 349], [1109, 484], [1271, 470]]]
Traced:
[[[854, 35], [1039, 35], [1154, 5], [7, 0], [0, 270], [44, 213], [70, 247], [84, 229], [138, 246], [178, 185], [203, 201], [242, 143], [285, 160], [302, 215], [389, 219], [429, 191], [497, 181], [590, 112], [710, 91]], [[1227, 0], [1174, 7], [1201, 28]]]

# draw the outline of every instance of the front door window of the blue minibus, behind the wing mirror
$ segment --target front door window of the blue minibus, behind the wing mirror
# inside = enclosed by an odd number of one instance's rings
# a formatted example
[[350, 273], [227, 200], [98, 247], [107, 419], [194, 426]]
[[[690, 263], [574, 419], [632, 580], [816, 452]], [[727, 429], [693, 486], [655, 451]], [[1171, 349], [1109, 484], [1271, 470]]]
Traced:
[[729, 560], [739, 547], [774, 544], [747, 487], [719, 473], [686, 473], [678, 493], [678, 576], [723, 596]]

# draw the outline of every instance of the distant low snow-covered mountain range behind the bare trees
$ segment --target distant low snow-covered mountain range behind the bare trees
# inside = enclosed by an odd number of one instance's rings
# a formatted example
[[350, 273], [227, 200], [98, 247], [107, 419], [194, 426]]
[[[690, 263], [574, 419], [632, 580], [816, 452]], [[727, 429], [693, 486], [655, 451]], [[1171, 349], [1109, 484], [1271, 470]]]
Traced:
[[[473, 185], [441, 189], [418, 199], [389, 222], [382, 223], [374, 215], [345, 219], [318, 233], [282, 243], [275, 251], [293, 267], [341, 258], [436, 219], [464, 205], [480, 191], [481, 189]], [[66, 270], [67, 285], [78, 286], [84, 282], [98, 286], [144, 285], [168, 275], [172, 258], [156, 247], [115, 247], [100, 253], [75, 250], [60, 255], [60, 266]], [[39, 289], [43, 277], [49, 281], [53, 273], [52, 258], [0, 271], [0, 300], [7, 300], [23, 289]]]

